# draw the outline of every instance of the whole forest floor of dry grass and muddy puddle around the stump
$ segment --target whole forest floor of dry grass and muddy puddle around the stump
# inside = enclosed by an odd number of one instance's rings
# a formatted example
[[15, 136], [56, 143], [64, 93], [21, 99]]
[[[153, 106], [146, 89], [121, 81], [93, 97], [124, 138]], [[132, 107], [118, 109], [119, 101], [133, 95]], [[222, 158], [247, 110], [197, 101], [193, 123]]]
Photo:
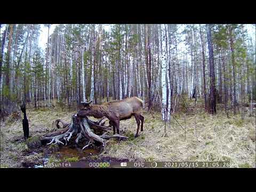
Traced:
[[[204, 112], [201, 102], [187, 113], [173, 114], [165, 124], [160, 113], [142, 111], [144, 129], [134, 138], [137, 124], [134, 118], [121, 121], [121, 134], [126, 141], [112, 139], [103, 150], [91, 148], [85, 151], [75, 147], [41, 146], [30, 150], [23, 137], [22, 119], [9, 118], [1, 122], [1, 167], [33, 167], [42, 164], [45, 154], [51, 162], [79, 161], [81, 159], [124, 159], [125, 161], [228, 161], [230, 167], [255, 167], [255, 111], [244, 120], [241, 114], [227, 115], [218, 110], [212, 116]], [[56, 130], [55, 120], [70, 122], [76, 111], [60, 108], [29, 109], [30, 135], [42, 135]], [[185, 121], [186, 119], [186, 121]], [[177, 123], [178, 122], [178, 123]], [[186, 130], [186, 137], [185, 137]], [[113, 134], [111, 132], [111, 134]], [[35, 137], [33, 137], [35, 138]], [[36, 145], [36, 141], [34, 142]], [[84, 157], [83, 157], [84, 156]], [[46, 165], [46, 167], [47, 167]], [[49, 167], [49, 166], [48, 166]]]

